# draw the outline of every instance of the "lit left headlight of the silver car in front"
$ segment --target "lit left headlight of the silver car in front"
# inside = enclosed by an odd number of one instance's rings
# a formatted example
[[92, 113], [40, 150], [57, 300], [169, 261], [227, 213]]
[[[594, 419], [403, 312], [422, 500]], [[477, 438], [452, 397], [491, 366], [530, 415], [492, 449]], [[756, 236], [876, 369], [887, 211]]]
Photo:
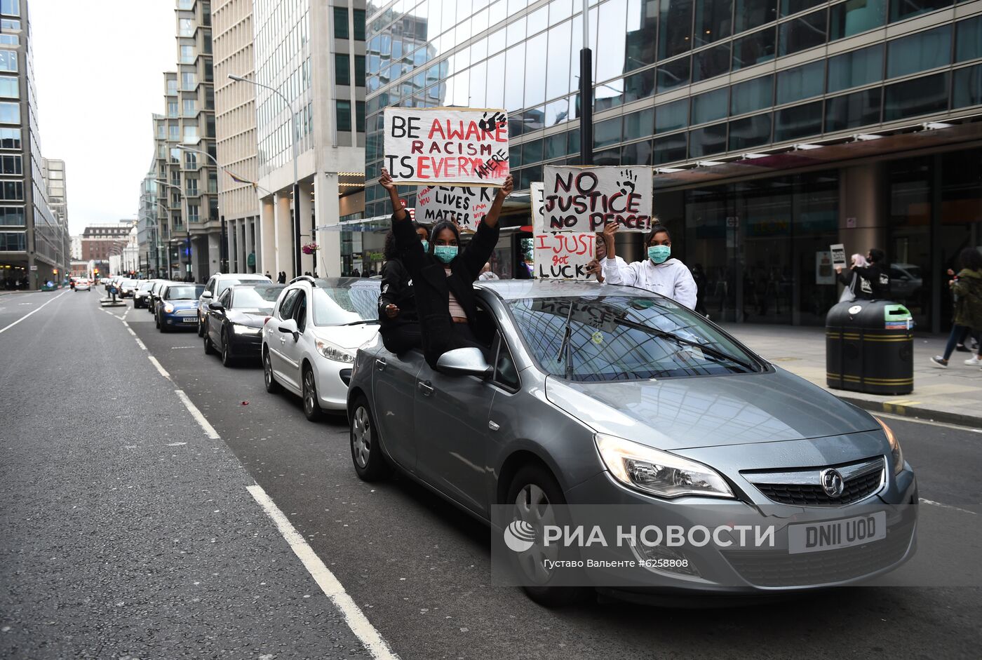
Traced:
[[659, 497], [733, 497], [716, 470], [613, 435], [593, 436], [600, 458], [618, 481]]

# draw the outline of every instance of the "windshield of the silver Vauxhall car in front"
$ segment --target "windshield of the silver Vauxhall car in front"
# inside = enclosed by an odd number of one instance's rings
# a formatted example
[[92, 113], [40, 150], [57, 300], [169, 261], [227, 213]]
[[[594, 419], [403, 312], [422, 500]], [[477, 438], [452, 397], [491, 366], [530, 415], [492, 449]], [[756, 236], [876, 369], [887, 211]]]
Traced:
[[704, 318], [668, 299], [526, 298], [509, 307], [539, 367], [560, 378], [638, 380], [760, 368]]

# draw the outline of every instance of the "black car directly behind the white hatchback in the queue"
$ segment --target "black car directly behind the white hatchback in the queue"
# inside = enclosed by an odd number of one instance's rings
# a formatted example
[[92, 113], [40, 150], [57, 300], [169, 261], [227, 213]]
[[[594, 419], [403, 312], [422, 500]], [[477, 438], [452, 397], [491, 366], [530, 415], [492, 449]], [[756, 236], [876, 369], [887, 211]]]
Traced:
[[225, 366], [239, 358], [259, 358], [262, 326], [273, 315], [285, 288], [284, 284], [240, 284], [209, 302], [204, 316], [204, 354], [218, 353]]

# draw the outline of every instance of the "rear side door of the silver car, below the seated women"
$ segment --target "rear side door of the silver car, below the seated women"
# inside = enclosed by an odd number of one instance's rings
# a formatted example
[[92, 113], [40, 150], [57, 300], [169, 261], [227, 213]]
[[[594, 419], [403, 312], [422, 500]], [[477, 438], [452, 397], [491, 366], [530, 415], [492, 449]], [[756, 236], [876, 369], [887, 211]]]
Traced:
[[379, 349], [371, 362], [375, 423], [386, 451], [399, 465], [416, 469], [415, 419], [416, 376], [425, 364], [420, 351], [402, 356]]

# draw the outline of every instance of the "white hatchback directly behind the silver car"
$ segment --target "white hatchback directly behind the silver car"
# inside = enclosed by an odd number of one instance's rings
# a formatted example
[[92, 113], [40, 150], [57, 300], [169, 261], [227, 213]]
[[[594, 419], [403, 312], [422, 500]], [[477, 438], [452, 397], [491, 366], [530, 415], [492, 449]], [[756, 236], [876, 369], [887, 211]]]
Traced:
[[266, 391], [300, 396], [311, 421], [344, 411], [355, 351], [378, 335], [380, 288], [353, 277], [294, 279], [263, 326]]

